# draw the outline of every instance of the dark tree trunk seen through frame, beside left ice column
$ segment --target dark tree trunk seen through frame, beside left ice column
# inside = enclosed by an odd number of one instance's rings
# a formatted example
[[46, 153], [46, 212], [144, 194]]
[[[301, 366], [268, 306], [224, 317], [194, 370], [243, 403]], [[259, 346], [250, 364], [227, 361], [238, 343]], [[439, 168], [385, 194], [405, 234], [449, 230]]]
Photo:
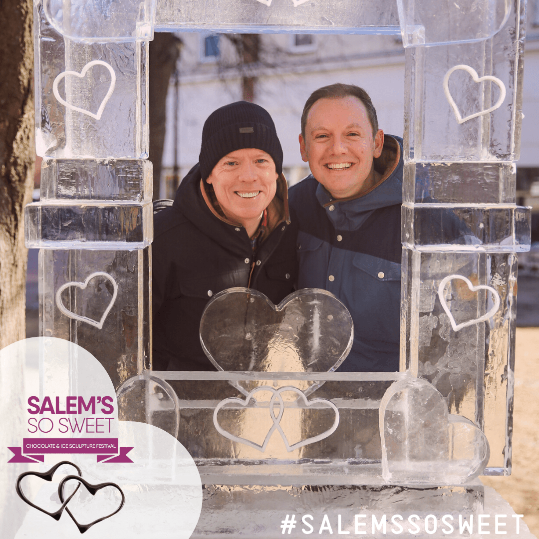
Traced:
[[[0, 0], [2, 1], [2, 0]], [[159, 197], [161, 160], [165, 140], [165, 117], [169, 81], [176, 68], [182, 41], [171, 33], [156, 32], [150, 42], [150, 151], [149, 160], [154, 165], [154, 200]]]

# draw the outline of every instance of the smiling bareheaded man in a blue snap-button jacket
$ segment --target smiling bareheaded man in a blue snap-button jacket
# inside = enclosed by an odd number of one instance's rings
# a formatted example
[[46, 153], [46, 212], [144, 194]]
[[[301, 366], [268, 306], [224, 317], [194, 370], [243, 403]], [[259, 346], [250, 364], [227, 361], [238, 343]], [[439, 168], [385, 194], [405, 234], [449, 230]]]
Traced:
[[378, 129], [367, 92], [317, 89], [301, 117], [312, 174], [289, 201], [299, 224], [299, 288], [324, 288], [354, 320], [340, 371], [397, 371], [400, 326], [402, 139]]

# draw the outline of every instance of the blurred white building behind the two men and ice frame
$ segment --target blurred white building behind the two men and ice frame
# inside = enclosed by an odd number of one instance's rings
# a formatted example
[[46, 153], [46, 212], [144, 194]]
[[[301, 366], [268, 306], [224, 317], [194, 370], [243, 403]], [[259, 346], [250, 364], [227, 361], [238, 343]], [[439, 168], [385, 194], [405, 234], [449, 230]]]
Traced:
[[[243, 99], [244, 77], [255, 79], [253, 100], [275, 122], [289, 184], [309, 172], [301, 160], [298, 135], [303, 105], [316, 88], [334, 82], [365, 88], [376, 107], [379, 127], [388, 134], [403, 134], [405, 72], [400, 36], [260, 34], [259, 61], [248, 66], [239, 62], [233, 34], [178, 36], [183, 48], [178, 77], [171, 80], [168, 93], [160, 197], [173, 198], [175, 178], [182, 178], [197, 163], [208, 115]], [[523, 113], [518, 202], [536, 209], [532, 228], [539, 236], [539, 0], [528, 2]]]

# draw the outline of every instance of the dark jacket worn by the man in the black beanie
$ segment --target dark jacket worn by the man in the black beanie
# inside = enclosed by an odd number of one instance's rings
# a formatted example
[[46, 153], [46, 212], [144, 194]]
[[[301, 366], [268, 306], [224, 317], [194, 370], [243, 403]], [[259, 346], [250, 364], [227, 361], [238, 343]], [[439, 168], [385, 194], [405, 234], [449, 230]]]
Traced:
[[[206, 204], [196, 165], [174, 204], [156, 214], [152, 244], [153, 368], [216, 370], [199, 340], [202, 312], [211, 296], [236, 286], [254, 288], [276, 305], [296, 280], [296, 226], [290, 222], [286, 179], [268, 206], [267, 237], [253, 252], [244, 227]], [[207, 188], [209, 189], [209, 188]]]

